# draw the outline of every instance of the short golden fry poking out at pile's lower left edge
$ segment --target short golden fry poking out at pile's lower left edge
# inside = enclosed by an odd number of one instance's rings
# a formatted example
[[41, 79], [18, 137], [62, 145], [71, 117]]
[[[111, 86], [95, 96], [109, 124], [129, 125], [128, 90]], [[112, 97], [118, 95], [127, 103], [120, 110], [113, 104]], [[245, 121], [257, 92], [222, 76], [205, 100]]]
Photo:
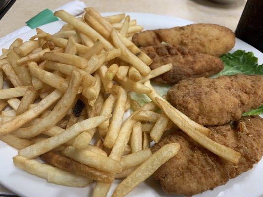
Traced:
[[0, 137], [0, 140], [17, 150], [26, 148], [32, 144], [29, 140], [20, 139], [19, 137], [13, 134], [3, 135]]

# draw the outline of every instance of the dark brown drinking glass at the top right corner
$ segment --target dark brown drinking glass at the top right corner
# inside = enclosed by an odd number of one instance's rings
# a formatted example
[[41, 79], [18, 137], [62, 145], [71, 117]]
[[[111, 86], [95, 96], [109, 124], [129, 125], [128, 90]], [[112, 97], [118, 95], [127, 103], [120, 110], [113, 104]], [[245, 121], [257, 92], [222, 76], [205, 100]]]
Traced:
[[263, 0], [247, 1], [235, 35], [263, 53]]

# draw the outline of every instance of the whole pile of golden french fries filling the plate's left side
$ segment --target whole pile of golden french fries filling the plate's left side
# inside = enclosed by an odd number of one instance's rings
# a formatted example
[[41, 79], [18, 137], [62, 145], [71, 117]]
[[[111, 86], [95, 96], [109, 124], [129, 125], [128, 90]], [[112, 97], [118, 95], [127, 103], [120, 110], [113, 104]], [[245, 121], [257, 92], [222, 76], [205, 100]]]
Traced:
[[[95, 180], [93, 197], [105, 197], [115, 178], [125, 178], [112, 195], [123, 197], [180, 150], [172, 143], [150, 151], [150, 143], [172, 127], [238, 162], [238, 152], [210, 140], [208, 128], [151, 86], [149, 80], [172, 65], [150, 69], [152, 60], [131, 42], [142, 30], [136, 20], [102, 17], [94, 8], [79, 18], [63, 10], [54, 15], [66, 22], [59, 32], [37, 28], [29, 41], [16, 39], [0, 57], [0, 139], [19, 150], [17, 167], [60, 185], [85, 187]], [[9, 88], [2, 89], [4, 83]], [[131, 91], [152, 102], [139, 106]], [[100, 138], [91, 145], [96, 132]], [[34, 160], [38, 156], [47, 164]]]

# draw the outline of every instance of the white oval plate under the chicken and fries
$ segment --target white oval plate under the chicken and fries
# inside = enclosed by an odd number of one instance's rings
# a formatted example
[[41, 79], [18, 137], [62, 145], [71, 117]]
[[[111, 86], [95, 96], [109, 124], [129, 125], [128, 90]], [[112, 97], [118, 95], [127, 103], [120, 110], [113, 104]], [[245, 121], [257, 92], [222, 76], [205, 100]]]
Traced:
[[[104, 15], [112, 15], [116, 13], [105, 13]], [[145, 29], [169, 28], [173, 26], [183, 26], [191, 24], [191, 21], [186, 21], [178, 18], [144, 14], [144, 13], [127, 13], [132, 19], [136, 19], [138, 24], [144, 26]], [[56, 21], [50, 24], [41, 26], [40, 28], [48, 33], [56, 33], [64, 23]], [[35, 30], [31, 30], [18, 37], [24, 41], [28, 40], [31, 36], [35, 35]], [[14, 38], [15, 39], [15, 38]], [[8, 48], [13, 40], [8, 41], [0, 47]], [[236, 39], [236, 45], [232, 52], [242, 49], [252, 51], [256, 57], [259, 58], [259, 63], [263, 63], [263, 54], [254, 47], [246, 44], [245, 42]], [[20, 195], [21, 197], [88, 197], [92, 195], [91, 186], [85, 188], [70, 188], [47, 183], [45, 179], [38, 178], [37, 176], [28, 174], [16, 168], [13, 165], [12, 157], [17, 154], [17, 150], [7, 146], [0, 141], [0, 183]], [[112, 184], [109, 195], [113, 193], [114, 188], [119, 181]], [[206, 191], [202, 194], [195, 195], [195, 197], [259, 197], [263, 195], [263, 160], [259, 164], [255, 164], [254, 168], [245, 172], [237, 178], [231, 179], [227, 184], [215, 188], [213, 191]], [[159, 183], [149, 178], [144, 183], [136, 187], [128, 197], [168, 197]]]

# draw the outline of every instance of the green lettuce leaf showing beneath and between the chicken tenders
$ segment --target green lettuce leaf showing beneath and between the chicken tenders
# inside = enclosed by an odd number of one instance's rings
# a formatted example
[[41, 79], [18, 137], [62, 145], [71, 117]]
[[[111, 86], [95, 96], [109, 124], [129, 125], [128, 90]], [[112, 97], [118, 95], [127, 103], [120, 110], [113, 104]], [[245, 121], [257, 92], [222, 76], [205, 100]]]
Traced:
[[[220, 75], [234, 75], [234, 74], [261, 74], [263, 75], [263, 64], [258, 64], [258, 58], [254, 56], [253, 52], [245, 52], [243, 50], [237, 50], [234, 53], [227, 53], [220, 57], [224, 63], [224, 69], [211, 78], [216, 78]], [[152, 86], [157, 90], [160, 95], [166, 95], [171, 88], [170, 85], [156, 84], [151, 82]], [[131, 93], [131, 98], [136, 100], [140, 106], [147, 102], [150, 102], [150, 98], [145, 94]], [[263, 106], [258, 109], [253, 109], [243, 114], [247, 115], [259, 115], [263, 113]]]

